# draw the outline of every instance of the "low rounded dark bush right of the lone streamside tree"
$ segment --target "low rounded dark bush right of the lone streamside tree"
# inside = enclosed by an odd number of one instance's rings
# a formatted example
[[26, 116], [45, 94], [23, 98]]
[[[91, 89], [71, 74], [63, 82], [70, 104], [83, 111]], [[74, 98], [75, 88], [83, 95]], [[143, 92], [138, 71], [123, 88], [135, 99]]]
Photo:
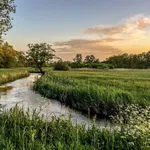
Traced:
[[54, 70], [63, 70], [63, 71], [67, 71], [69, 70], [69, 66], [66, 62], [62, 62], [62, 61], [58, 61], [55, 65], [54, 65]]

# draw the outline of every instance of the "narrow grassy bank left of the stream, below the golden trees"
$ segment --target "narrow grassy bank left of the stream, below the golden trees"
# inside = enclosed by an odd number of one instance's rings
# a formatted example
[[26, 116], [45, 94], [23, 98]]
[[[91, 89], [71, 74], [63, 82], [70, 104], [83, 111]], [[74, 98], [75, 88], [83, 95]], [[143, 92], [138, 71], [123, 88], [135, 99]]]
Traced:
[[0, 69], [0, 85], [29, 76], [26, 68]]

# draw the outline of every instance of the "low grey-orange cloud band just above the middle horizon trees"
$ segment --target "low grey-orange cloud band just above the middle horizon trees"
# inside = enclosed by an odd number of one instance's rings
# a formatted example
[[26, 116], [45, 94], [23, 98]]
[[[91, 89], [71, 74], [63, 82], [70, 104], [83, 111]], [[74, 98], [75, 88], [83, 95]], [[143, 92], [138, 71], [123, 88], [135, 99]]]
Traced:
[[106, 45], [105, 42], [114, 42], [121, 39], [106, 38], [101, 40], [89, 40], [89, 39], [73, 39], [65, 42], [56, 42], [56, 53], [63, 57], [69, 57], [72, 60], [77, 53], [81, 53], [83, 56], [93, 54], [96, 57], [103, 59], [114, 54], [119, 54], [122, 51], [118, 48]]

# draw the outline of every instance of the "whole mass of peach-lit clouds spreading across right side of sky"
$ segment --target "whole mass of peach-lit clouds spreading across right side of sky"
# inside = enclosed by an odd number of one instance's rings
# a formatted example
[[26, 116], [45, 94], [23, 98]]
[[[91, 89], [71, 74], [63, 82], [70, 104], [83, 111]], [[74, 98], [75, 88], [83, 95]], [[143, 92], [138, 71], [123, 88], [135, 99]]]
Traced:
[[55, 42], [54, 46], [58, 56], [65, 59], [72, 60], [77, 53], [81, 53], [83, 56], [93, 54], [102, 60], [123, 52], [130, 53], [135, 48], [142, 49], [141, 45], [143, 47], [145, 43], [141, 41], [150, 39], [147, 30], [149, 26], [150, 16], [139, 14], [123, 19], [116, 25], [90, 27], [84, 31], [84, 38]]

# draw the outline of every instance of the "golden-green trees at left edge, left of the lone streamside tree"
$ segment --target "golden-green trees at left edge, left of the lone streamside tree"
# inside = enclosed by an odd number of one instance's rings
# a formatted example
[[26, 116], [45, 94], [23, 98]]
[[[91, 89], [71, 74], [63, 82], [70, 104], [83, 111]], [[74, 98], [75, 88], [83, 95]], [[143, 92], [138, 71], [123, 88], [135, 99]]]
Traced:
[[0, 68], [24, 67], [26, 58], [23, 52], [18, 52], [7, 42], [0, 45]]

